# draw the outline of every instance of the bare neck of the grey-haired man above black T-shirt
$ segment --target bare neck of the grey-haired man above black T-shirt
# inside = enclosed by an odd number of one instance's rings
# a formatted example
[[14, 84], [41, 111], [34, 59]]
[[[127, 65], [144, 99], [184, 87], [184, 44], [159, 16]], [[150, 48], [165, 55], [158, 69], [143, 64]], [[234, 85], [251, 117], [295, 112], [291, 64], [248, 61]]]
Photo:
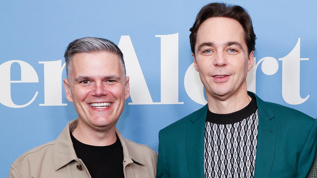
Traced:
[[72, 134], [81, 143], [93, 146], [108, 146], [117, 140], [115, 127], [105, 131], [97, 131], [81, 124], [80, 120], [78, 120], [78, 125]]

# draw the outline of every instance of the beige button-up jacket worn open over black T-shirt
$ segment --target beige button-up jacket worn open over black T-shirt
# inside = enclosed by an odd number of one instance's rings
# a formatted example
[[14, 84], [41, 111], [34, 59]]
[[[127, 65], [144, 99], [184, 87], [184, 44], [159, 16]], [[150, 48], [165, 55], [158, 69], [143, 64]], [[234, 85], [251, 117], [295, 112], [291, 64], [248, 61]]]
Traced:
[[[91, 177], [85, 164], [78, 159], [70, 138], [70, 132], [78, 120], [68, 122], [56, 140], [33, 148], [11, 164], [11, 177]], [[116, 134], [123, 148], [125, 177], [156, 177], [157, 153], [146, 145], [134, 143]]]

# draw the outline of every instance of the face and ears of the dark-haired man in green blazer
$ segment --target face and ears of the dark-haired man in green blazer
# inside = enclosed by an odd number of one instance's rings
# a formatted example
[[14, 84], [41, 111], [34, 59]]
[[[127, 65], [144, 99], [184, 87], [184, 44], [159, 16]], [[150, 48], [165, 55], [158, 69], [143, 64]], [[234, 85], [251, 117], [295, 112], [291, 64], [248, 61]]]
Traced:
[[247, 93], [246, 77], [253, 66], [241, 24], [213, 17], [197, 31], [194, 66], [205, 86], [207, 99], [226, 100]]

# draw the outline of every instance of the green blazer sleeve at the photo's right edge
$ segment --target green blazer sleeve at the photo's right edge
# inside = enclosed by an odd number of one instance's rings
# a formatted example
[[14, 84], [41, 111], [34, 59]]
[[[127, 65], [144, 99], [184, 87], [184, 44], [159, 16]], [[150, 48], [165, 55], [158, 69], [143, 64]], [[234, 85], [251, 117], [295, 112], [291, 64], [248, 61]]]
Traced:
[[297, 177], [307, 177], [314, 162], [317, 145], [317, 120], [314, 120], [297, 162]]

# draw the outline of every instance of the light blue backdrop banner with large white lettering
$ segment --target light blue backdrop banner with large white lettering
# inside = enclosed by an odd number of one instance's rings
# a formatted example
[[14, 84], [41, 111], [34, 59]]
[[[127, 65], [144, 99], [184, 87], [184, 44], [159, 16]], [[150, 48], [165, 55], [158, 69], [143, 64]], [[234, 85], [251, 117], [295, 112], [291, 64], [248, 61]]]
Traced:
[[[117, 128], [158, 150], [158, 132], [207, 103], [189, 29], [206, 1], [1, 1], [0, 177], [27, 150], [77, 118], [63, 54], [74, 39], [117, 44], [130, 98]], [[257, 36], [248, 90], [317, 118], [317, 1], [227, 1], [248, 10]]]

